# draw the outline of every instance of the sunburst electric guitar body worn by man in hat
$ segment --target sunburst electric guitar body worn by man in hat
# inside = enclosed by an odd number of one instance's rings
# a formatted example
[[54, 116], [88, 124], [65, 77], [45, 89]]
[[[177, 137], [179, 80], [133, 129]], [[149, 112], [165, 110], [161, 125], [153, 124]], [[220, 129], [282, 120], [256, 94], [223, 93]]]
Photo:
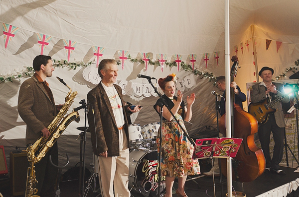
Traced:
[[269, 115], [275, 113], [277, 109], [267, 107], [270, 98], [267, 98], [259, 103], [250, 103], [248, 106], [248, 112], [257, 119], [259, 124], [264, 124], [268, 121]]

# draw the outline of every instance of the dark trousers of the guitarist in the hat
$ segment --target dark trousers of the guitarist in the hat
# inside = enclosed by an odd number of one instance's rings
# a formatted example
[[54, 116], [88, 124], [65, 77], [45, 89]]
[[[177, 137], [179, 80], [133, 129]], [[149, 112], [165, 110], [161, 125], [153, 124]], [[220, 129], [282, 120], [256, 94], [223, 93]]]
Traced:
[[[270, 134], [273, 134], [275, 142], [273, 148], [273, 157], [270, 155]], [[280, 169], [279, 163], [284, 154], [284, 128], [277, 126], [274, 114], [271, 114], [267, 123], [259, 126], [259, 138], [266, 158], [266, 167]]]

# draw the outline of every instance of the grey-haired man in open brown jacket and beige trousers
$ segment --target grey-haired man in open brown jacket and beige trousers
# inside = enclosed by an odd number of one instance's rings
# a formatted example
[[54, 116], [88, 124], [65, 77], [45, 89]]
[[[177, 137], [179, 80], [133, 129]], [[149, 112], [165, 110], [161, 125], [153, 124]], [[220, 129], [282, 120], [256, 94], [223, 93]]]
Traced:
[[[129, 129], [127, 115], [140, 111], [125, 104], [116, 84], [115, 60], [99, 64], [101, 82], [87, 94], [92, 148], [98, 156], [102, 197], [129, 197]], [[114, 194], [113, 194], [114, 190]]]

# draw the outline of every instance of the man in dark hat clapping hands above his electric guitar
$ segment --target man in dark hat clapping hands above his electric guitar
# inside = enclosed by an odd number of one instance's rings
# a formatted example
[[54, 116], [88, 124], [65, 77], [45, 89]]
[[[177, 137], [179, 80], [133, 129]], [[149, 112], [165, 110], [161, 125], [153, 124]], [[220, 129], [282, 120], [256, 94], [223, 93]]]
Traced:
[[[252, 87], [251, 99], [253, 103], [260, 102], [266, 98], [271, 98], [275, 100], [284, 94], [284, 86], [281, 83], [272, 82], [272, 75], [274, 70], [270, 67], [263, 67], [259, 75], [263, 79], [263, 82], [255, 84]], [[288, 103], [290, 97], [285, 97], [281, 102]], [[279, 163], [283, 159], [284, 153], [284, 128], [285, 128], [285, 118], [283, 113], [283, 108], [281, 102], [274, 104], [274, 108], [277, 112], [269, 116], [269, 120], [263, 124], [259, 125], [259, 138], [261, 146], [266, 158], [266, 169], [265, 173], [269, 173], [270, 170], [274, 173], [280, 175], [286, 175], [286, 173], [280, 169]], [[273, 139], [275, 142], [273, 157], [271, 159], [270, 155], [270, 134], [273, 133]]]

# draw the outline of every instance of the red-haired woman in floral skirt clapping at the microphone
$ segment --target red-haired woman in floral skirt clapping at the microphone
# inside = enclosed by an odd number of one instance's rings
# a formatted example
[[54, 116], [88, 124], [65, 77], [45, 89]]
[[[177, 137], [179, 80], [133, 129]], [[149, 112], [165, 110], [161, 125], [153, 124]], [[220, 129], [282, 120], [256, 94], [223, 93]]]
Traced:
[[[182, 102], [183, 94], [180, 90], [175, 94], [175, 74], [168, 75], [165, 78], [160, 78], [158, 84], [163, 90], [165, 102], [171, 109], [175, 118], [179, 124], [186, 131], [184, 120], [190, 121], [192, 117], [191, 107], [195, 100], [195, 94], [187, 96], [187, 107]], [[153, 106], [157, 113], [160, 112], [159, 103], [162, 103], [161, 99], [158, 99]], [[192, 159], [194, 147], [184, 135], [183, 131], [173, 119], [170, 112], [165, 106], [163, 106], [163, 121], [162, 127], [162, 149], [161, 149], [161, 171], [162, 175], [165, 175], [166, 183], [166, 197], [172, 197], [172, 186], [175, 177], [178, 178], [178, 189], [176, 194], [178, 197], [187, 197], [184, 191], [187, 175], [200, 174], [200, 167], [198, 160]], [[160, 130], [157, 135], [157, 147], [159, 151], [160, 142]]]

